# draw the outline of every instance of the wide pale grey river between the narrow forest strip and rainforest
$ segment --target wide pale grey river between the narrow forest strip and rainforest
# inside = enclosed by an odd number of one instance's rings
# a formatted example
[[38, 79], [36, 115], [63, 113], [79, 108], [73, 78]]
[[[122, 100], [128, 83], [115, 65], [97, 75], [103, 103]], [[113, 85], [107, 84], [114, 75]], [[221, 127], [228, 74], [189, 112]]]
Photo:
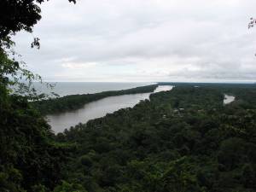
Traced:
[[[165, 90], [172, 90], [172, 86], [159, 86], [154, 92]], [[86, 123], [90, 119], [103, 117], [107, 113], [113, 113], [120, 108], [132, 108], [141, 100], [148, 99], [150, 94], [151, 93], [109, 96], [96, 102], [85, 104], [84, 108], [78, 110], [48, 115], [47, 119], [53, 131], [57, 133], [64, 131], [70, 126]]]

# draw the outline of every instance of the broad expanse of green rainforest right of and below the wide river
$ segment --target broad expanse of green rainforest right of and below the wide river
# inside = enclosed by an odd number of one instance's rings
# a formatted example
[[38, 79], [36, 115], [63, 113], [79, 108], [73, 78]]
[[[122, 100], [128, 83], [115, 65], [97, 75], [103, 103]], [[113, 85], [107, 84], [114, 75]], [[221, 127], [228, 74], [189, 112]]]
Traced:
[[[228, 90], [236, 101], [224, 105]], [[77, 125], [56, 136], [77, 145], [64, 178], [87, 191], [256, 191], [255, 95], [254, 85], [176, 84]]]

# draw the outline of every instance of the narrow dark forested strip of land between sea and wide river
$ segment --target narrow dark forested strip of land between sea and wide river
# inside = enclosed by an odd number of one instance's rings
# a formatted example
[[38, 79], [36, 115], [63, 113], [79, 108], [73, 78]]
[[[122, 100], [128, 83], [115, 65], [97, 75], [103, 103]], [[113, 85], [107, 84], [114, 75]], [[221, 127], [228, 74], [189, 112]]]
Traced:
[[34, 108], [37, 108], [43, 115], [50, 113], [60, 113], [68, 110], [82, 108], [84, 104], [95, 102], [108, 96], [122, 96], [127, 94], [149, 93], [153, 92], [158, 84], [152, 84], [142, 87], [131, 88], [128, 90], [111, 90], [95, 94], [69, 95], [62, 97], [49, 98], [32, 102]]

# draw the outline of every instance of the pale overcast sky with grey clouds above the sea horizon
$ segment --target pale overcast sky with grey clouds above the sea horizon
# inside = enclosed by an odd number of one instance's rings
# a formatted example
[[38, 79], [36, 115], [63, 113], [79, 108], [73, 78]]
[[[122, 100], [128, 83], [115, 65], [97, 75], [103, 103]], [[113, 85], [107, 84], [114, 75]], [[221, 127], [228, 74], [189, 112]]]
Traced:
[[[16, 50], [46, 81], [256, 81], [255, 0], [51, 0]], [[41, 49], [31, 49], [32, 38]]]

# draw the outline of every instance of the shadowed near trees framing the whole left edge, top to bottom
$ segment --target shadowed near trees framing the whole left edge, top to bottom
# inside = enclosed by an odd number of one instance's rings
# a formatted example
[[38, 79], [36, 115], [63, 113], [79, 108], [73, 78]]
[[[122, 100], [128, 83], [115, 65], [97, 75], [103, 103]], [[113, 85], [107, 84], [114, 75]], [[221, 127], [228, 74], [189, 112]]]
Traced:
[[[59, 192], [67, 186], [61, 183], [61, 170], [75, 146], [57, 143], [44, 117], [28, 102], [42, 99], [31, 86], [41, 78], [26, 70], [12, 40], [16, 32], [32, 32], [41, 19], [40, 3], [44, 0], [0, 1], [1, 192]], [[39, 38], [31, 46], [39, 48]]]

